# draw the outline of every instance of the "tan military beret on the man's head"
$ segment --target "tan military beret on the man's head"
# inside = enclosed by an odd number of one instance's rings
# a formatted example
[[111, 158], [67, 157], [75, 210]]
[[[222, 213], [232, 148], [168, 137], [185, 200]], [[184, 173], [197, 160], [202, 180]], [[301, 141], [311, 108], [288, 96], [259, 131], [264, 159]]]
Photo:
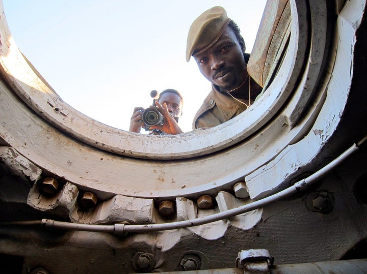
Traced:
[[213, 7], [203, 12], [192, 23], [186, 45], [186, 60], [211, 48], [222, 36], [230, 19], [222, 7]]

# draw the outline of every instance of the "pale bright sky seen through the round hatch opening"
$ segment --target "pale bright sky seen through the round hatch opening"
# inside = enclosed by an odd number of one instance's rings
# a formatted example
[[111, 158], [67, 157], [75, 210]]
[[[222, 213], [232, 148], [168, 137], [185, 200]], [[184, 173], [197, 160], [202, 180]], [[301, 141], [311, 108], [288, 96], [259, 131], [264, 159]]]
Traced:
[[[191, 23], [222, 6], [241, 28], [251, 53], [266, 0], [3, 0], [20, 51], [70, 106], [128, 130], [134, 107], [150, 91], [183, 96], [179, 125], [192, 120], [211, 90], [194, 61], [186, 62]], [[144, 130], [142, 130], [144, 133]]]

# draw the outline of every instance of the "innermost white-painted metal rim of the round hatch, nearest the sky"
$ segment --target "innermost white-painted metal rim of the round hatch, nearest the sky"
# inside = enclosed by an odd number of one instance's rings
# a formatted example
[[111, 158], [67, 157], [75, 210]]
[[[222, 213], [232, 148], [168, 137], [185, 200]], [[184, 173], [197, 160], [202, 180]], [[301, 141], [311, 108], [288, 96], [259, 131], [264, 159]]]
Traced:
[[[23, 57], [10, 34], [5, 16], [2, 16], [3, 46], [0, 63], [5, 78], [26, 104], [55, 127], [89, 145], [128, 157], [149, 159], [205, 155], [252, 135], [272, 118], [290, 95], [302, 68], [304, 51], [308, 44], [305, 3], [298, 1], [293, 6], [292, 46], [287, 52], [287, 62], [282, 65], [283, 72], [277, 77], [278, 83], [268, 88], [268, 96], [261, 98], [238, 119], [214, 129], [199, 130], [181, 136], [157, 137], [125, 132], [98, 123], [73, 109], [63, 102]], [[4, 14], [3, 10], [2, 13]]]

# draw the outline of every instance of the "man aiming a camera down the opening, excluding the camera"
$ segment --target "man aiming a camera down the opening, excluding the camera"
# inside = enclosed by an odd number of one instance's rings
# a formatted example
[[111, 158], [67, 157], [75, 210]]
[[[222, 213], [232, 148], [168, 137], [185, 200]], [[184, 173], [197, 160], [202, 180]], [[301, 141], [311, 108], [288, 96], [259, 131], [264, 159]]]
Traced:
[[[152, 96], [154, 97], [154, 96]], [[144, 108], [134, 108], [133, 116], [130, 119], [129, 131], [139, 133], [142, 128], [151, 131], [152, 134], [179, 134], [182, 130], [177, 124], [178, 117], [182, 114], [183, 98], [175, 89], [165, 89], [160, 93], [158, 99], [154, 99], [156, 110], [162, 114], [162, 123], [154, 126], [148, 126], [144, 123]], [[154, 106], [153, 106], [154, 107]]]

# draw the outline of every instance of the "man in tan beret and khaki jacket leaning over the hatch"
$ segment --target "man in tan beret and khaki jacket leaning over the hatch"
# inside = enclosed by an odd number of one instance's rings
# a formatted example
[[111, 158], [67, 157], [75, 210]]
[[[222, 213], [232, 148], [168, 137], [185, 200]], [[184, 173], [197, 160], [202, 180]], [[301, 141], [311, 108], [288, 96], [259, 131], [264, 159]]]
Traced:
[[193, 120], [193, 129], [215, 127], [246, 110], [261, 93], [247, 73], [249, 54], [240, 29], [222, 7], [213, 7], [192, 23], [186, 60], [193, 56], [212, 91]]

